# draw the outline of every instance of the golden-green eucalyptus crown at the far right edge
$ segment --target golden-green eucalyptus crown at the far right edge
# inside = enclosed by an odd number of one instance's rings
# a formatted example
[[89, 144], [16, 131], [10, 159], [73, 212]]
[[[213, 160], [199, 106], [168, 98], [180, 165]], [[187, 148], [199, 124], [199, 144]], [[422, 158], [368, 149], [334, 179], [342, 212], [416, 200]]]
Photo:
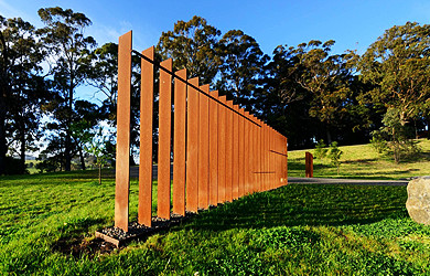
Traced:
[[361, 77], [375, 85], [373, 102], [398, 109], [405, 125], [430, 106], [430, 25], [407, 22], [385, 31], [359, 60]]

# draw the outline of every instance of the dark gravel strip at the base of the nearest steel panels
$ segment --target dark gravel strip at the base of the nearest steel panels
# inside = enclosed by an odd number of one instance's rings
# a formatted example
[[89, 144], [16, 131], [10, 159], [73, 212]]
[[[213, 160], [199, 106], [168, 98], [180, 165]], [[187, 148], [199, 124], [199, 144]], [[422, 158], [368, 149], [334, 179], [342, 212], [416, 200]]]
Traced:
[[146, 225], [139, 224], [137, 222], [130, 222], [128, 224], [128, 232], [122, 231], [119, 227], [110, 226], [99, 231], [100, 233], [112, 237], [118, 241], [129, 241], [142, 236], [148, 236], [153, 234], [154, 232], [166, 230], [173, 225], [180, 224], [181, 222], [194, 216], [195, 213], [186, 212], [185, 216], [179, 214], [170, 214], [170, 220], [161, 219], [153, 216], [152, 217], [152, 227], [148, 227]]

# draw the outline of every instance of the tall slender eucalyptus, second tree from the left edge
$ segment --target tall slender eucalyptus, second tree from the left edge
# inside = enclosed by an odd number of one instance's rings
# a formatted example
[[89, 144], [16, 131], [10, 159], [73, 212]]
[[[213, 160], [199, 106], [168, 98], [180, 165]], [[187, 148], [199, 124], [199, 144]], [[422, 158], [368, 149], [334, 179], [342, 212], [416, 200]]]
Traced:
[[92, 21], [83, 13], [56, 7], [40, 9], [39, 15], [45, 24], [40, 34], [51, 53], [51, 73], [56, 92], [46, 110], [53, 114], [56, 119], [54, 129], [64, 138], [64, 168], [68, 171], [73, 158], [75, 92], [90, 70], [89, 59], [85, 56], [96, 46], [96, 41], [85, 36], [85, 29]]

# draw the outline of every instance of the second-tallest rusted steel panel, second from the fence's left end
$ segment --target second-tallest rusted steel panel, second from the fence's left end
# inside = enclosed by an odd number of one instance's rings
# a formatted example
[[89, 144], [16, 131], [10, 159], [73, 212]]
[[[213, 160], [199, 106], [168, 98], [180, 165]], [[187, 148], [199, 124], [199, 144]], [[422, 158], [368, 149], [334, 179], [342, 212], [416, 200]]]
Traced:
[[[142, 55], [153, 61], [154, 47], [144, 50]], [[153, 64], [141, 59], [138, 222], [149, 227], [152, 226], [152, 116]]]

